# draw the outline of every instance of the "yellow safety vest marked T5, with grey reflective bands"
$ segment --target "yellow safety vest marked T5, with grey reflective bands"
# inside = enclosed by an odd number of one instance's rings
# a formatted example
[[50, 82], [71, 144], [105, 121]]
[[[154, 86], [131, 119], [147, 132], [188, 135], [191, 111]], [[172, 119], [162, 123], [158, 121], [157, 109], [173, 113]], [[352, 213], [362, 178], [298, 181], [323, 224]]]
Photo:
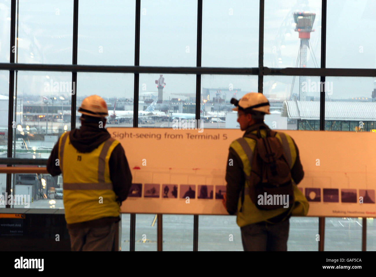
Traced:
[[108, 163], [118, 143], [109, 138], [92, 152], [81, 153], [70, 143], [69, 132], [60, 137], [59, 162], [68, 224], [119, 216]]

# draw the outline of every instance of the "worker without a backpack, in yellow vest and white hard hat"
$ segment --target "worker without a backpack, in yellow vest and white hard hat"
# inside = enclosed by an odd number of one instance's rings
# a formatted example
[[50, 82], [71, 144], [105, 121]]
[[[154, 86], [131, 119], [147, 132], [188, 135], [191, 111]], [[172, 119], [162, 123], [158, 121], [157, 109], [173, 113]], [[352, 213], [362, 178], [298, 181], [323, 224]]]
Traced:
[[65, 132], [47, 162], [62, 173], [65, 220], [72, 251], [114, 251], [120, 205], [132, 183], [121, 144], [105, 129], [108, 109], [98, 95], [83, 99], [80, 129]]

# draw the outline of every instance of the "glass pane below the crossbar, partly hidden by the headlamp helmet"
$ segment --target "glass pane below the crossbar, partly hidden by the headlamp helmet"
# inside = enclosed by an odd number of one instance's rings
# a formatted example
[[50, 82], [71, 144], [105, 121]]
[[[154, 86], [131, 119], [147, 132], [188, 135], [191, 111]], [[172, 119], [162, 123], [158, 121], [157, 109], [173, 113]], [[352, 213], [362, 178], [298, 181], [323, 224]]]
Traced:
[[240, 128], [230, 100], [240, 99], [257, 89], [258, 77], [254, 75], [202, 75], [200, 119], [203, 128]]

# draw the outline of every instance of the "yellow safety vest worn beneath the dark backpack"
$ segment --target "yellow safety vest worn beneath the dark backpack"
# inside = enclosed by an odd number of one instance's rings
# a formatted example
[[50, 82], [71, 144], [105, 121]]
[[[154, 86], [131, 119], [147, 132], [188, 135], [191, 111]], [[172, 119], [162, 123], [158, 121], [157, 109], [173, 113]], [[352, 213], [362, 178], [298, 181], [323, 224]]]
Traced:
[[[253, 131], [252, 133], [256, 134], [257, 130]], [[266, 136], [266, 130], [260, 130], [261, 136]], [[294, 146], [294, 142], [290, 136], [285, 133], [278, 132], [276, 138], [282, 144], [284, 148], [284, 153], [286, 155], [288, 164], [290, 169], [293, 168], [294, 163], [296, 161], [296, 149]], [[286, 208], [278, 208], [276, 210], [259, 210], [255, 204], [253, 204], [252, 200], [249, 196], [249, 176], [251, 173], [251, 163], [253, 158], [253, 151], [256, 146], [256, 141], [251, 138], [243, 137], [233, 141], [230, 144], [230, 148], [233, 148], [235, 152], [240, 157], [241, 161], [243, 162], [243, 170], [244, 176], [246, 179], [245, 187], [244, 187], [244, 202], [243, 207], [241, 204], [241, 196], [238, 200], [238, 213], [237, 213], [237, 223], [240, 227], [261, 222], [267, 221], [267, 219], [271, 219], [279, 214], [282, 214], [286, 211]], [[296, 184], [293, 181], [294, 187], [294, 207], [291, 208], [291, 214], [296, 216], [305, 216], [308, 213], [308, 200], [303, 195], [303, 193], [297, 188]], [[241, 211], [240, 211], [241, 210]], [[286, 217], [288, 214], [286, 215]]]

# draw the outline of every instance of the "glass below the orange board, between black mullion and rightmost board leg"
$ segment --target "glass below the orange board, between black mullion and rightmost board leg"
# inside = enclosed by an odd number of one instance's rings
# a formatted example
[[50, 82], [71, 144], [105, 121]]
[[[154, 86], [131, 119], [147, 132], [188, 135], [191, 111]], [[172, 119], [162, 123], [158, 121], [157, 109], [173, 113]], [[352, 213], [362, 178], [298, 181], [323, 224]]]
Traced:
[[326, 217], [324, 251], [361, 251], [361, 217]]

